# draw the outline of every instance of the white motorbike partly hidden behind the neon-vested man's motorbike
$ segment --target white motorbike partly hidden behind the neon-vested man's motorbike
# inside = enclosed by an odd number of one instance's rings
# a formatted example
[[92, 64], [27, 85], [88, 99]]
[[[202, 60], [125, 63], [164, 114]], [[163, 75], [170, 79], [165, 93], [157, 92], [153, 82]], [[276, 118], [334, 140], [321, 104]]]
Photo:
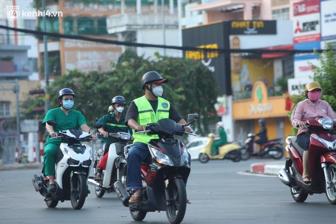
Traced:
[[[124, 155], [124, 147], [128, 141], [132, 140], [132, 136], [126, 132], [108, 133], [110, 138], [116, 139], [118, 142], [111, 144], [108, 149], [108, 156], [106, 162], [106, 169], [102, 174], [102, 181], [96, 181], [93, 177], [89, 177], [88, 183], [95, 186], [95, 193], [97, 198], [102, 198], [104, 193], [115, 191], [113, 184], [117, 181], [117, 159]], [[130, 143], [132, 144], [132, 143]], [[102, 158], [102, 149], [95, 152], [95, 172], [97, 171], [97, 164]]]

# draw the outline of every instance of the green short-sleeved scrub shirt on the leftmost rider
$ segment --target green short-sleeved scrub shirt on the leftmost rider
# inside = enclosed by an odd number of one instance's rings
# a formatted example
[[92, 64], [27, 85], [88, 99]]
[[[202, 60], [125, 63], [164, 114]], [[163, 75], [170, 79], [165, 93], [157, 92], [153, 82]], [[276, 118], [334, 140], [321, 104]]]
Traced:
[[[87, 123], [85, 117], [78, 110], [70, 109], [69, 114], [67, 115], [61, 107], [50, 109], [45, 115], [42, 125], [45, 126], [45, 123], [51, 120], [57, 121], [57, 123], [62, 127], [62, 130], [78, 130], [80, 126]], [[58, 125], [54, 125], [53, 130], [55, 132], [59, 132], [61, 131], [61, 128]], [[61, 144], [62, 141], [60, 139], [51, 139], [48, 136], [46, 143]]]

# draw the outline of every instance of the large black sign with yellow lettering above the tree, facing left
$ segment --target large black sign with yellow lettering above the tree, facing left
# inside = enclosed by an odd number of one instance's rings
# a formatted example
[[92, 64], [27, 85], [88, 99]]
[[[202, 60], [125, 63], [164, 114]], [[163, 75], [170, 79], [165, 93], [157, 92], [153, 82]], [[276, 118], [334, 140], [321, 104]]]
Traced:
[[[228, 23], [219, 22], [182, 30], [182, 45], [202, 48], [230, 48]], [[215, 51], [185, 51], [184, 57], [200, 60], [213, 73], [219, 94], [231, 95], [230, 54]]]

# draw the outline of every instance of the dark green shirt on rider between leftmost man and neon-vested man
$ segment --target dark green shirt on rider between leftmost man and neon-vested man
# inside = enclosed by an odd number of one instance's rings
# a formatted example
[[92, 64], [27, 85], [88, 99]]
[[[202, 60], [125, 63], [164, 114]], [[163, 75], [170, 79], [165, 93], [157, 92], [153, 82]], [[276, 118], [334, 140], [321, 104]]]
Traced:
[[[132, 129], [125, 125], [125, 115], [122, 114], [119, 122], [116, 120], [115, 114], [107, 114], [101, 117], [97, 123], [103, 125], [104, 131], [108, 133], [117, 133], [119, 131], [128, 132], [132, 134]], [[116, 139], [113, 138], [101, 138], [101, 143], [113, 144], [117, 142]]]

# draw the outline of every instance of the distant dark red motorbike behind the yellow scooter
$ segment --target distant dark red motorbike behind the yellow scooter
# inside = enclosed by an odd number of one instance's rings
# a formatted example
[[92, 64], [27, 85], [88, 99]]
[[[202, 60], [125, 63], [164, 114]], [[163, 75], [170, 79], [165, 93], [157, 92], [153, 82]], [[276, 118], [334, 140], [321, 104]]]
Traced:
[[260, 146], [260, 151], [258, 153], [253, 153], [253, 143], [256, 134], [249, 133], [247, 139], [245, 140], [245, 146], [242, 147], [241, 160], [247, 160], [251, 155], [253, 156], [269, 156], [273, 159], [281, 159], [284, 156], [284, 150], [281, 144], [281, 138], [275, 138], [267, 141]]

